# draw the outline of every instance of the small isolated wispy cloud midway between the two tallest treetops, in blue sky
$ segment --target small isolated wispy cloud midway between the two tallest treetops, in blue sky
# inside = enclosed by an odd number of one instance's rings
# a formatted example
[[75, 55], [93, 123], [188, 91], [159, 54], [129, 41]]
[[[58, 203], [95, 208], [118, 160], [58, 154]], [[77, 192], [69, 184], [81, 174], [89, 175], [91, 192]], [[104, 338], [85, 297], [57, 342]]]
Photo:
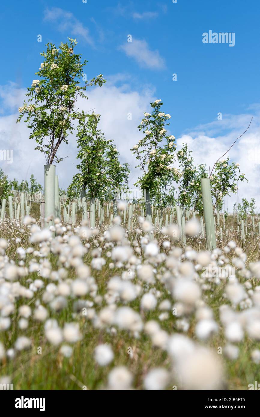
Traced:
[[126, 42], [119, 47], [127, 56], [134, 58], [141, 67], [152, 69], [163, 69], [165, 66], [164, 58], [161, 57], [158, 50], [150, 50], [146, 40], [132, 39], [132, 42]]

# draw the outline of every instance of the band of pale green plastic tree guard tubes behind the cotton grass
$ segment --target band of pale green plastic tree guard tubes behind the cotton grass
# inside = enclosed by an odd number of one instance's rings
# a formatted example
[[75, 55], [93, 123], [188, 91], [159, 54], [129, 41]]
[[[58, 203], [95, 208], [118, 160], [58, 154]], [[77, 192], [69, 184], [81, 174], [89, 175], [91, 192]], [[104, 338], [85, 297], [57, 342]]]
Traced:
[[[53, 221], [46, 221], [48, 218], [53, 219], [58, 217], [63, 221], [64, 224], [71, 224], [76, 226], [77, 224], [77, 211], [81, 210], [82, 212], [82, 219], [88, 221], [90, 227], [96, 227], [96, 214], [98, 216], [98, 226], [103, 224], [104, 217], [106, 216], [109, 219], [109, 223], [113, 224], [113, 218], [117, 215], [117, 211], [115, 208], [114, 201], [107, 203], [104, 206], [101, 206], [100, 201], [95, 200], [94, 198], [91, 201], [86, 200], [86, 191], [82, 190], [81, 195], [76, 201], [68, 202], [66, 204], [66, 196], [59, 195], [59, 184], [58, 184], [58, 176], [56, 176], [56, 167], [55, 165], [45, 165], [45, 181], [44, 181], [44, 197], [41, 191], [37, 193], [35, 196], [27, 195], [26, 193], [17, 192], [15, 193], [15, 198], [20, 197], [20, 203], [14, 201], [13, 207], [13, 196], [8, 197], [8, 207], [9, 207], [9, 217], [10, 219], [20, 219], [20, 222], [23, 223], [23, 219], [25, 215], [30, 215], [31, 203], [38, 202], [40, 203], [40, 222], [41, 227], [47, 227], [53, 224]], [[206, 237], [207, 248], [209, 250], [214, 249], [217, 246], [216, 243], [216, 223], [217, 226], [220, 228], [220, 238], [223, 238], [223, 229], [226, 229], [225, 225], [225, 216], [222, 216], [222, 226], [220, 227], [220, 213], [217, 212], [216, 218], [213, 214], [213, 207], [212, 207], [212, 198], [211, 198], [211, 189], [210, 189], [210, 178], [202, 178], [201, 179], [201, 186], [202, 186], [202, 201], [203, 201], [203, 210], [204, 210], [204, 220], [201, 216], [200, 224], [201, 224], [201, 236]], [[34, 199], [32, 199], [34, 198]], [[153, 224], [155, 228], [162, 228], [162, 222], [164, 220], [164, 225], [168, 226], [172, 224], [175, 220], [174, 210], [170, 210], [169, 213], [166, 213], [165, 210], [165, 217], [164, 211], [159, 214], [159, 210], [155, 210], [150, 203], [150, 196], [149, 190], [146, 190], [144, 193], [145, 198], [145, 210], [141, 209], [141, 216], [146, 217], [146, 219]], [[1, 213], [0, 219], [3, 221], [5, 219], [5, 208], [6, 208], [7, 201], [5, 199], [2, 200], [1, 206]], [[61, 216], [61, 207], [63, 206], [63, 218]], [[112, 214], [111, 214], [112, 208]], [[133, 229], [133, 215], [134, 211], [137, 208], [137, 204], [127, 203], [126, 208], [124, 211], [121, 212], [122, 215], [122, 223], [126, 226], [127, 229], [130, 231]], [[176, 219], [177, 225], [179, 230], [182, 232], [182, 244], [186, 245], [186, 235], [185, 235], [185, 221], [186, 219], [190, 219], [191, 215], [196, 218], [196, 212], [193, 214], [187, 210], [186, 213], [183, 212], [181, 206], [176, 206]], [[234, 214], [235, 216], [235, 214]], [[127, 222], [126, 222], [127, 219]], [[217, 221], [216, 221], [217, 219]], [[258, 219], [258, 215], [257, 215]], [[255, 218], [252, 216], [252, 229], [255, 230]], [[260, 221], [258, 222], [258, 231], [260, 233]], [[231, 226], [231, 232], [233, 232], [233, 226]], [[237, 234], [241, 234], [242, 239], [245, 239], [247, 235], [247, 220], [239, 219], [237, 214]]]

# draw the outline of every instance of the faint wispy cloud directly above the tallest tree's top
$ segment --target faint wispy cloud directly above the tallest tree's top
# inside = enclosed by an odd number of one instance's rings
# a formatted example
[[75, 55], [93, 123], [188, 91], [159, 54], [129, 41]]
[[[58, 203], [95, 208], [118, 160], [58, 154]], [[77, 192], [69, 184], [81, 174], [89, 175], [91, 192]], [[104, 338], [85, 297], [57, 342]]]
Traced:
[[44, 20], [57, 24], [57, 29], [61, 33], [68, 33], [70, 37], [81, 36], [89, 45], [94, 47], [94, 41], [89, 34], [88, 28], [84, 26], [71, 12], [67, 12], [58, 7], [46, 9]]

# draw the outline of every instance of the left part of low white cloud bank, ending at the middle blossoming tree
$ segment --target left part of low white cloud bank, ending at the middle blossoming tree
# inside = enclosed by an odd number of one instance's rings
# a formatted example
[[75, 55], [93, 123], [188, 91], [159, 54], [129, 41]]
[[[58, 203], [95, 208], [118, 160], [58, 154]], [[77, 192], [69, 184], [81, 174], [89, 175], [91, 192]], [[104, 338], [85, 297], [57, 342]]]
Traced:
[[[123, 75], [118, 75], [115, 80], [124, 79]], [[130, 149], [141, 139], [141, 133], [137, 126], [143, 118], [144, 111], [149, 109], [149, 103], [154, 100], [154, 90], [145, 88], [144, 90], [131, 91], [126, 84], [126, 79], [122, 87], [116, 87], [109, 82], [103, 87], [95, 87], [88, 90], [88, 100], [79, 99], [77, 106], [79, 110], [95, 112], [101, 114], [100, 128], [103, 130], [107, 139], [114, 139], [116, 147], [120, 153], [121, 162], [130, 164], [131, 173], [129, 185], [132, 187], [138, 178], [139, 170], [134, 167], [137, 165], [135, 157]], [[9, 86], [5, 89], [5, 100], [9, 102], [13, 97], [13, 89], [18, 91], [17, 86]], [[0, 87], [1, 91], [1, 87]], [[22, 96], [23, 90], [20, 95]], [[16, 108], [23, 102], [16, 104]], [[131, 120], [128, 120], [131, 113]], [[0, 149], [13, 149], [13, 163], [0, 161], [0, 167], [8, 174], [10, 179], [18, 178], [29, 180], [30, 174], [44, 182], [43, 165], [46, 163], [44, 155], [35, 151], [35, 141], [29, 139], [30, 130], [26, 127], [23, 119], [16, 123], [18, 113], [10, 116], [0, 117]], [[76, 127], [76, 126], [75, 126]], [[56, 164], [56, 174], [59, 176], [59, 186], [67, 188], [71, 183], [73, 174], [77, 172], [76, 165], [78, 152], [76, 143], [76, 130], [68, 138], [68, 145], [62, 144], [58, 155], [61, 158], [68, 156], [61, 163]]]

